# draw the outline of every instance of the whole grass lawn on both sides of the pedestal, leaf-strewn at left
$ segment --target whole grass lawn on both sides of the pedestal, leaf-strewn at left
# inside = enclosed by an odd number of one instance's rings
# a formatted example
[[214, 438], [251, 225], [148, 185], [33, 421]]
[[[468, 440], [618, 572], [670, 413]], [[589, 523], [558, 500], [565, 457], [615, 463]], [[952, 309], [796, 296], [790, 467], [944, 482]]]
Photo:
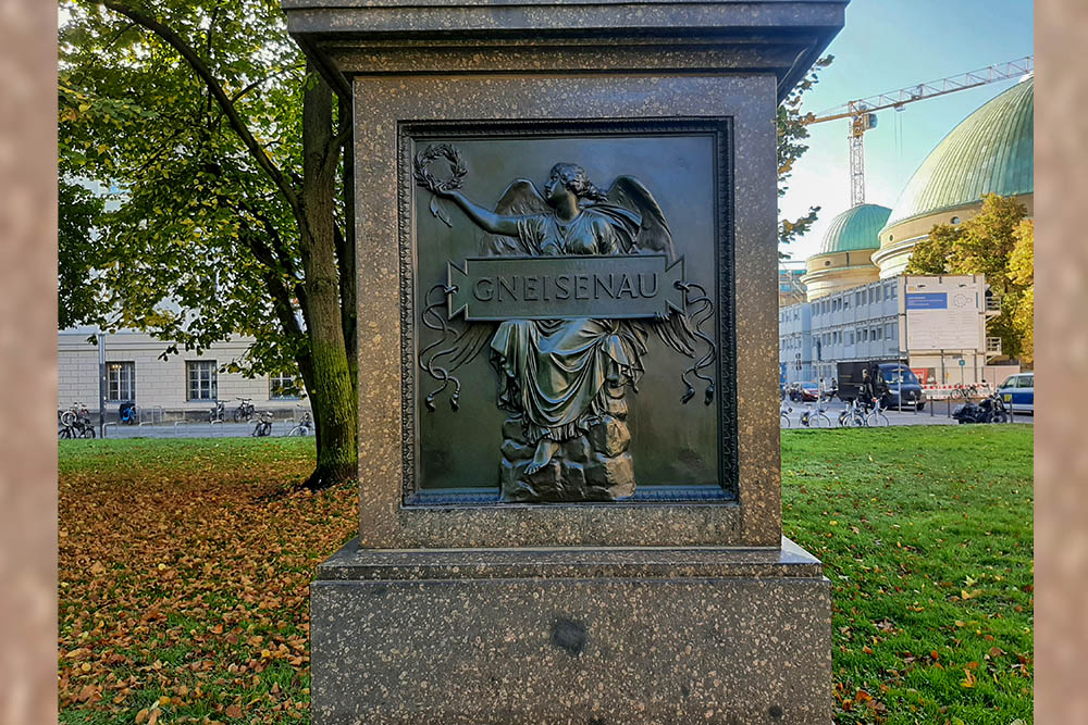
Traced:
[[[834, 597], [839, 723], [1031, 722], [1031, 428], [782, 433]], [[312, 439], [60, 445], [62, 723], [308, 718], [307, 585], [357, 492]]]

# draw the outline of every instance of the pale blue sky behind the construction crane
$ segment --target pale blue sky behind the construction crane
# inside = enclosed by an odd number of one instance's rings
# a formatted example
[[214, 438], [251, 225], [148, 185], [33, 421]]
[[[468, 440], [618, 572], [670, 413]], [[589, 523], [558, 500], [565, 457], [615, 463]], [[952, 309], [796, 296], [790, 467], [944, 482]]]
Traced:
[[[817, 115], [857, 100], [1035, 54], [1031, 0], [851, 0], [846, 24], [827, 49], [834, 62], [805, 95]], [[908, 103], [877, 113], [865, 133], [865, 201], [894, 208], [900, 191], [957, 123], [1007, 90], [1015, 79]], [[819, 250], [830, 221], [850, 208], [848, 121], [808, 127], [808, 151], [796, 163], [782, 216], [821, 208], [804, 238], [783, 246], [794, 261]]]

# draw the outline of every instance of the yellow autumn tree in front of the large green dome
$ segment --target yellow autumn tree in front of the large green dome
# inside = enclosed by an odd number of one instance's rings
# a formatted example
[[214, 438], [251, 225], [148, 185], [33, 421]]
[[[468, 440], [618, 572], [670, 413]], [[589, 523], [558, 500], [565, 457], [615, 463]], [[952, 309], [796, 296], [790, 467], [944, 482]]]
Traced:
[[938, 224], [911, 253], [907, 274], [985, 274], [1001, 313], [987, 333], [1010, 358], [1034, 357], [1035, 226], [1015, 199], [988, 193], [979, 213], [959, 225]]

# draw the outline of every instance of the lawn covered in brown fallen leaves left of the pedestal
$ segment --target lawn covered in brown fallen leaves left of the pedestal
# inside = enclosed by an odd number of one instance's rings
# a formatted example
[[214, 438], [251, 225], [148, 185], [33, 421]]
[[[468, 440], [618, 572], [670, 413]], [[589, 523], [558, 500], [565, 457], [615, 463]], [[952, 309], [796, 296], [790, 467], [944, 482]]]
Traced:
[[61, 722], [308, 720], [308, 585], [358, 500], [295, 488], [312, 440], [64, 441], [60, 464]]

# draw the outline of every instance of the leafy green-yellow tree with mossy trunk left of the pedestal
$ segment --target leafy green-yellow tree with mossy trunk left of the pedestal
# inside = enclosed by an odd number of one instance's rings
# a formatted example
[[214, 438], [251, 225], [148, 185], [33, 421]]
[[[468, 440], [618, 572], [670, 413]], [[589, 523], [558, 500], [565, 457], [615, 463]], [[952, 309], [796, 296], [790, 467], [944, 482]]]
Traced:
[[[176, 341], [166, 352], [255, 337], [227, 367], [297, 367], [317, 423], [309, 485], [354, 477], [346, 100], [337, 105], [307, 68], [274, 0], [79, 0], [62, 9], [61, 187], [119, 189], [116, 209], [95, 215], [94, 241], [81, 234], [83, 208], [62, 193], [61, 227], [75, 230], [61, 237], [62, 266], [92, 250], [62, 268], [66, 322], [148, 330]], [[81, 274], [95, 284], [64, 282]]]

